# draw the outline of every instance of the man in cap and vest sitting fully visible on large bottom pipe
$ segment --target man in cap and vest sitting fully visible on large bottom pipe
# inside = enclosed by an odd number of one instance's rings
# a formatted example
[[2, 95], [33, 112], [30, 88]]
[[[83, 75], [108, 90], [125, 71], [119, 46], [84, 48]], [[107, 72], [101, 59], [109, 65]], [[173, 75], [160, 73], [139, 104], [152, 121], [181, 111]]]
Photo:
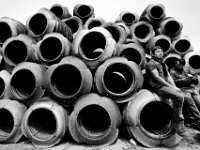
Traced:
[[148, 84], [147, 87], [163, 99], [172, 99], [174, 129], [180, 136], [185, 136], [186, 128], [182, 114], [184, 93], [176, 87], [166, 64], [162, 62], [164, 56], [162, 48], [159, 46], [154, 47], [151, 56], [152, 59], [149, 60], [146, 66], [145, 80]]

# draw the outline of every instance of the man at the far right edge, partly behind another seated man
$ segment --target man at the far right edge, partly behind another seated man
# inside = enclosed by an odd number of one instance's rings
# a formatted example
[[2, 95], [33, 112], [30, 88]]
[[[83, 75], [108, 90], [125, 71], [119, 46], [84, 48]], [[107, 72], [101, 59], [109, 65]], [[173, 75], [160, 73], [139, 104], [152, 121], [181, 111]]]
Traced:
[[[187, 73], [184, 69], [185, 60], [180, 59], [175, 62], [174, 67], [170, 70], [170, 74], [176, 84], [186, 97], [189, 98], [184, 102], [184, 108], [189, 114], [185, 116], [185, 122], [193, 128], [199, 130], [200, 119], [199, 119], [199, 110], [200, 110], [200, 95], [197, 87], [198, 77], [197, 75], [191, 75]], [[192, 99], [192, 100], [190, 100]], [[198, 108], [198, 109], [197, 109]]]

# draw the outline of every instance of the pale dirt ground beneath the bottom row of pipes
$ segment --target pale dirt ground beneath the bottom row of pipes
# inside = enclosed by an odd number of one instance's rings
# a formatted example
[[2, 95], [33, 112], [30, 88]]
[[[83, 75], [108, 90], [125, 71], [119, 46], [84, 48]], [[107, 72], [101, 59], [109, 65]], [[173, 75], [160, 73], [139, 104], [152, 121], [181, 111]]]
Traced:
[[[109, 146], [88, 146], [78, 145], [74, 142], [60, 142], [58, 145], [44, 150], [200, 150], [200, 132], [187, 128], [187, 136], [177, 146], [146, 148], [134, 140], [118, 138], [115, 143]], [[17, 144], [0, 144], [0, 150], [41, 150], [34, 147], [28, 140], [22, 140]]]

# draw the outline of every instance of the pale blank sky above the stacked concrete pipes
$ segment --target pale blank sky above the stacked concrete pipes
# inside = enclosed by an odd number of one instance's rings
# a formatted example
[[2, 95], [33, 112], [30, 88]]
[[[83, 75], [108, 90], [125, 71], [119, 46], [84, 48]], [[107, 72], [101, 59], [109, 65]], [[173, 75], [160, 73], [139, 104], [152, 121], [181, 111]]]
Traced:
[[0, 18], [7, 16], [25, 24], [40, 8], [56, 3], [68, 7], [71, 14], [76, 4], [92, 5], [95, 17], [106, 21], [115, 21], [124, 10], [140, 16], [147, 5], [161, 3], [167, 17], [183, 24], [182, 35], [189, 37], [195, 51], [200, 51], [200, 0], [0, 0]]

